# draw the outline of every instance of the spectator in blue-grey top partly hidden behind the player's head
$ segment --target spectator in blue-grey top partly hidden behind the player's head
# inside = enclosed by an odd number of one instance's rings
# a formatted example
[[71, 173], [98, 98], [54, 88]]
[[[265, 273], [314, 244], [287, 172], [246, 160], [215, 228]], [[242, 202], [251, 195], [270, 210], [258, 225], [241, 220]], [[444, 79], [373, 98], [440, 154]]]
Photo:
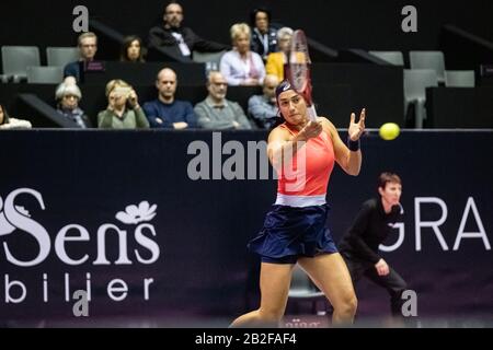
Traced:
[[249, 100], [249, 114], [257, 127], [271, 129], [277, 118], [276, 88], [279, 81], [276, 75], [265, 75], [264, 94]]

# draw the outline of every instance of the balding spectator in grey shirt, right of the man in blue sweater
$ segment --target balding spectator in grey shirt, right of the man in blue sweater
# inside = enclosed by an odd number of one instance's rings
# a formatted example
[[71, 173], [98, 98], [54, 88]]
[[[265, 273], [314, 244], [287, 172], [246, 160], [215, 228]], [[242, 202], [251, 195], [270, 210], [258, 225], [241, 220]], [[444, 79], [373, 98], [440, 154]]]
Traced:
[[206, 100], [195, 106], [198, 125], [204, 129], [251, 129], [241, 106], [226, 100], [228, 82], [218, 71], [211, 71], [207, 81]]

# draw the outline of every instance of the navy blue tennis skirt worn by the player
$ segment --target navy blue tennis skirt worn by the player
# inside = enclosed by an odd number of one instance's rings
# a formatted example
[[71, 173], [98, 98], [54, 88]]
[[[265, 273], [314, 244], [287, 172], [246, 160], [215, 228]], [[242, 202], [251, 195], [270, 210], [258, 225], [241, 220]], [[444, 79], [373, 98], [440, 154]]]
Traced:
[[[328, 212], [328, 205], [306, 208], [273, 206], [261, 232], [250, 241], [248, 247], [266, 258], [264, 261], [286, 261], [284, 258], [337, 253], [326, 226]], [[293, 261], [296, 262], [296, 259]]]

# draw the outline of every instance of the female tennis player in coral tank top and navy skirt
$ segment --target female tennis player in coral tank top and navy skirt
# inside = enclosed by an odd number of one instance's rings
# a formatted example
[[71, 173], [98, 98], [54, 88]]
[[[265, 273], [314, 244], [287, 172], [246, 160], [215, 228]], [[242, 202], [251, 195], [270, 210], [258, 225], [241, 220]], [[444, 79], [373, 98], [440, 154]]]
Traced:
[[334, 308], [333, 325], [353, 323], [357, 300], [347, 267], [326, 228], [325, 202], [334, 162], [349, 175], [362, 165], [359, 138], [365, 131], [365, 109], [359, 121], [351, 115], [348, 145], [324, 117], [310, 121], [307, 103], [288, 81], [276, 89], [284, 122], [268, 137], [268, 158], [278, 173], [277, 200], [267, 213], [250, 250], [262, 257], [260, 308], [238, 317], [232, 327], [278, 326], [295, 264], [308, 273]]

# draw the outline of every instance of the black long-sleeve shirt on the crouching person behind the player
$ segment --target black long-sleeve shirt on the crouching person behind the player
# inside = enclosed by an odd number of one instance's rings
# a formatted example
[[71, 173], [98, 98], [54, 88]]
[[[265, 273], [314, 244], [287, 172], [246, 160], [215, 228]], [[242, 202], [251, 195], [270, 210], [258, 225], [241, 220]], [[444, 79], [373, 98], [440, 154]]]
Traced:
[[377, 264], [380, 260], [378, 246], [387, 238], [393, 225], [401, 217], [401, 208], [392, 207], [386, 213], [381, 199], [369, 199], [363, 203], [353, 225], [342, 237], [339, 249], [347, 252], [358, 259]]

